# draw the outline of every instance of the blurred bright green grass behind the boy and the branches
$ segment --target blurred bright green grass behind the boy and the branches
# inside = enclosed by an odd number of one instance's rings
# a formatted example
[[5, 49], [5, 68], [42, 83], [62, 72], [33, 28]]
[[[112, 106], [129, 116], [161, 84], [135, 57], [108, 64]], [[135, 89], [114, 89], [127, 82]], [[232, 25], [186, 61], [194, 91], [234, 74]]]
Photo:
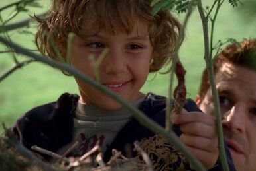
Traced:
[[[11, 1], [0, 1], [0, 7]], [[208, 1], [209, 2], [209, 1]], [[45, 1], [42, 9], [30, 8], [29, 14], [39, 14], [47, 9], [49, 1]], [[10, 13], [1, 13], [2, 17], [8, 17]], [[27, 13], [19, 15], [15, 20], [27, 18]], [[246, 13], [233, 9], [227, 2], [220, 10], [216, 21], [215, 39], [224, 40], [235, 38], [255, 38], [256, 21], [246, 17]], [[183, 16], [178, 16], [182, 20]], [[15, 21], [13, 20], [13, 21]], [[33, 24], [32, 24], [33, 27]], [[25, 46], [35, 48], [33, 34], [24, 34], [24, 30], [34, 32], [34, 28], [24, 28], [10, 32], [11, 40]], [[2, 36], [2, 35], [1, 35]], [[6, 50], [0, 44], [0, 51]], [[186, 39], [180, 49], [180, 58], [186, 68], [186, 86], [188, 98], [194, 98], [198, 91], [202, 69], [204, 68], [204, 46], [202, 24], [198, 11], [195, 10], [186, 28]], [[19, 57], [22, 61], [26, 57]], [[13, 59], [7, 53], [0, 53], [0, 75], [13, 66]], [[143, 86], [143, 92], [155, 92], [166, 96], [168, 92], [169, 75], [157, 73], [150, 75], [147, 83]], [[17, 118], [34, 106], [52, 102], [63, 92], [77, 93], [78, 88], [72, 77], [66, 77], [60, 71], [41, 63], [31, 63], [22, 69], [15, 71], [10, 77], [0, 83], [0, 122], [7, 127], [11, 126]], [[0, 126], [0, 133], [3, 132]]]

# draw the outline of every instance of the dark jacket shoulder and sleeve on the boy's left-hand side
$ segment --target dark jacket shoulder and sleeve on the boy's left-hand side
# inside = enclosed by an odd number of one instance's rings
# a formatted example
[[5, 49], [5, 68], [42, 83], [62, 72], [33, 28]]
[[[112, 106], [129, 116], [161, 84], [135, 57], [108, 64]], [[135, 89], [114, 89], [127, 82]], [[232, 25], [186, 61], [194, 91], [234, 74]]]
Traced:
[[28, 149], [38, 145], [55, 151], [71, 140], [71, 136], [66, 135], [72, 134], [78, 98], [76, 94], [64, 93], [56, 102], [32, 108], [17, 120], [12, 127], [13, 132]]

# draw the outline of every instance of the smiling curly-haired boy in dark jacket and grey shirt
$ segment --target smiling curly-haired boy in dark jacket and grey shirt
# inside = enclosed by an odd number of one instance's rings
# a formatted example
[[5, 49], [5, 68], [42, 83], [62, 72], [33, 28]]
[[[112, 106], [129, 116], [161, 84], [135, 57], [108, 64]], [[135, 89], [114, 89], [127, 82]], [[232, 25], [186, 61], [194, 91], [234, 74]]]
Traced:
[[[164, 126], [166, 98], [139, 90], [149, 72], [159, 71], [171, 60], [180, 24], [168, 11], [161, 10], [152, 16], [150, 3], [149, 0], [54, 1], [48, 16], [38, 19], [36, 40], [43, 54], [68, 61], [67, 38], [74, 32], [70, 65], [92, 79], [96, 79], [96, 73], [88, 57], [97, 59], [108, 48], [98, 68], [101, 84]], [[50, 46], [51, 42], [58, 47], [62, 59]], [[115, 100], [75, 79], [80, 96], [62, 94], [56, 102], [36, 107], [17, 121], [13, 131], [25, 147], [38, 145], [63, 154], [74, 141], [79, 141], [78, 148], [70, 155], [81, 156], [99, 141], [107, 161], [112, 149], [129, 157], [139, 156], [127, 150], [133, 149], [133, 142], [138, 140], [155, 170], [190, 169], [190, 164], [170, 142], [141, 126]], [[214, 117], [196, 112], [198, 108], [191, 100], [184, 109], [174, 120], [181, 125], [181, 141], [206, 168], [220, 170], [220, 162], [216, 163]], [[174, 131], [180, 135], [178, 129]]]

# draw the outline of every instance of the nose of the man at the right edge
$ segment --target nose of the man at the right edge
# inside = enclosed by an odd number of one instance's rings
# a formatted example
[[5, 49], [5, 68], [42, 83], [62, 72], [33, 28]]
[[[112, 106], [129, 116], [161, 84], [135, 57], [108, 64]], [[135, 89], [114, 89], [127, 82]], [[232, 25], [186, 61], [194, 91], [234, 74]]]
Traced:
[[246, 109], [244, 106], [233, 106], [222, 116], [222, 125], [233, 133], [243, 133], [246, 127]]

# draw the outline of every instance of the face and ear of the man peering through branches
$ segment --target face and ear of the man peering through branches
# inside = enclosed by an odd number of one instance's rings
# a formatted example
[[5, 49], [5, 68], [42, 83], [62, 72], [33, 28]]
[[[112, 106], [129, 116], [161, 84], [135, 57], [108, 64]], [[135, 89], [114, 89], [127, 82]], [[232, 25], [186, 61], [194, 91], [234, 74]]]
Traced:
[[[216, 74], [224, 138], [237, 170], [256, 170], [256, 72], [224, 63]], [[197, 101], [214, 115], [211, 90]]]

